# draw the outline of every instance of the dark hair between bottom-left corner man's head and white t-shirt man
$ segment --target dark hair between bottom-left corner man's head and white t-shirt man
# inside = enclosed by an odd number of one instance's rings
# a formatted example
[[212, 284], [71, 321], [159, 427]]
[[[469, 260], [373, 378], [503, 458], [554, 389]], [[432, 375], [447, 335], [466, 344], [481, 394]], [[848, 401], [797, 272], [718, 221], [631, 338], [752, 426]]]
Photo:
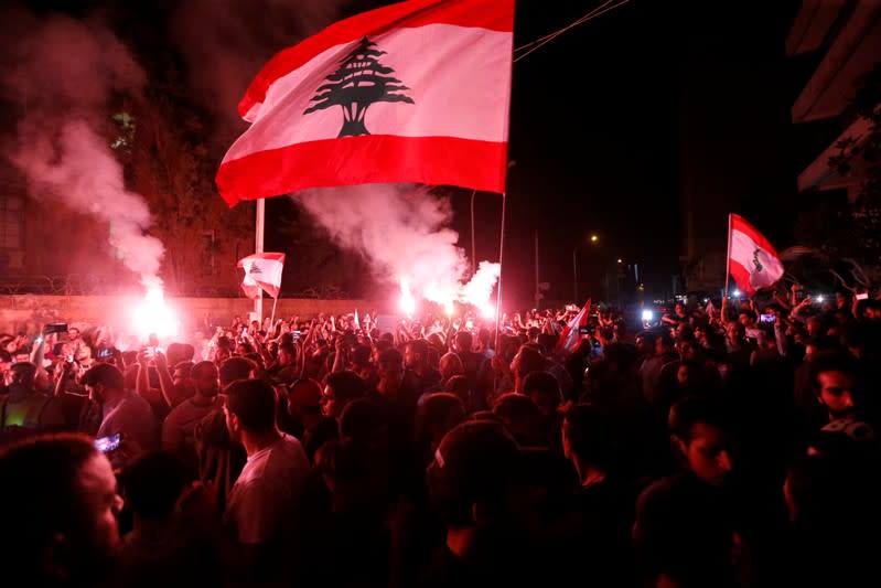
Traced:
[[120, 482], [126, 503], [135, 514], [155, 520], [174, 512], [184, 479], [184, 466], [175, 455], [148, 451], [126, 467]]

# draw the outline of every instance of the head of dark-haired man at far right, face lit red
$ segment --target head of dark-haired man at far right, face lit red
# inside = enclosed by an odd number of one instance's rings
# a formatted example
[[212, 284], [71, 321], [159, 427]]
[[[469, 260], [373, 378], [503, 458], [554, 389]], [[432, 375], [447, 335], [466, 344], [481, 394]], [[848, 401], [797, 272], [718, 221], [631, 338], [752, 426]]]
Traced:
[[846, 351], [824, 351], [810, 356], [810, 379], [817, 400], [829, 411], [829, 419], [852, 418], [859, 383], [859, 364]]

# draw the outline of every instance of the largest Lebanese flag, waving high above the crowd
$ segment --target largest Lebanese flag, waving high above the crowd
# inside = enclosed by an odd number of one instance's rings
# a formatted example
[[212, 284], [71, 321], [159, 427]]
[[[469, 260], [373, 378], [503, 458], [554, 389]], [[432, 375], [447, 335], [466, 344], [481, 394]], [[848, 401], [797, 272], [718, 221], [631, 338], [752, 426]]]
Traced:
[[412, 182], [503, 193], [514, 0], [410, 0], [287, 49], [238, 106], [217, 172], [230, 205]]

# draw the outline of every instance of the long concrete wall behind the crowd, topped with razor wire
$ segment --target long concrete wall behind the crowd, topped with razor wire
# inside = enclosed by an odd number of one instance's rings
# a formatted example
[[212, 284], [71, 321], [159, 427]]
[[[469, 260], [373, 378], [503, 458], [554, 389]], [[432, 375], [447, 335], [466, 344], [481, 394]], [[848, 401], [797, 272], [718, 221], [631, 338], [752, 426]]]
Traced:
[[[130, 323], [130, 313], [141, 300], [122, 296], [0, 296], [0, 333], [25, 331], [36, 333], [42, 324], [66, 322], [83, 330], [103, 324], [120, 331]], [[247, 298], [169, 298], [169, 306], [178, 310], [184, 329], [196, 324], [230, 324], [233, 317], [247, 318], [254, 302]], [[312, 318], [320, 312], [345, 314], [359, 312], [389, 312], [388, 301], [280, 299], [277, 318]], [[272, 299], [264, 299], [264, 313], [272, 311]]]

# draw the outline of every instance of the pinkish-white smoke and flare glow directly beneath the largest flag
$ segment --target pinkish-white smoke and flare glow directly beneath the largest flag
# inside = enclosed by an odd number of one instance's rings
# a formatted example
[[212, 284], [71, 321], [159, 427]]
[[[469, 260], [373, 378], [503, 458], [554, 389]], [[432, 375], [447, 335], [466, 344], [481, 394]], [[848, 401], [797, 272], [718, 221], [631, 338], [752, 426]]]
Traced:
[[440, 304], [486, 306], [499, 265], [481, 261], [471, 281], [462, 284], [470, 263], [449, 228], [447, 199], [406, 184], [305, 190], [292, 197], [336, 243], [370, 260], [379, 278], [404, 280], [418, 297]]

